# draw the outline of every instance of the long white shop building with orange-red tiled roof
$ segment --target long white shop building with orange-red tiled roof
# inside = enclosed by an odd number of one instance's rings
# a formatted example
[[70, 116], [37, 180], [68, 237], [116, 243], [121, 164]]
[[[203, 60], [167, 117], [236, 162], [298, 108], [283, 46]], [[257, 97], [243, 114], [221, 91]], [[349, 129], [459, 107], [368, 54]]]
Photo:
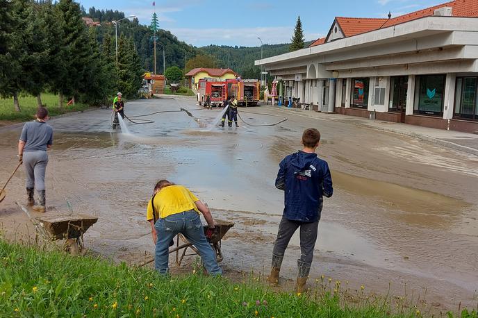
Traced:
[[310, 47], [256, 60], [313, 109], [478, 132], [478, 0], [388, 19], [336, 17]]

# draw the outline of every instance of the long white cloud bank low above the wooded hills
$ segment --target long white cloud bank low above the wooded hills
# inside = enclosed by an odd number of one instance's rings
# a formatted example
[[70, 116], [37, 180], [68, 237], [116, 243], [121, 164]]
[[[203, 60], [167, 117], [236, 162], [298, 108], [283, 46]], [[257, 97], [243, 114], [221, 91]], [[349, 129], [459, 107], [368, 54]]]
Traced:
[[[252, 27], [252, 28], [170, 28], [179, 40], [198, 47], [209, 44], [238, 47], [258, 47], [261, 37], [264, 44], [288, 43], [292, 37], [290, 26]], [[320, 33], [306, 33], [306, 40], [317, 40]]]

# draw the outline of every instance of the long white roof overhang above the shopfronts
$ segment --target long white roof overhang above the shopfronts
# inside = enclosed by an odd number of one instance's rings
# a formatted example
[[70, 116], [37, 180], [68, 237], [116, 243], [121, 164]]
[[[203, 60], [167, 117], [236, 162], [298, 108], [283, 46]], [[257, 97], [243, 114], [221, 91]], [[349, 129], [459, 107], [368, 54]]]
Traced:
[[[478, 44], [478, 18], [423, 17], [315, 47], [256, 60], [266, 69], [299, 67], [307, 61], [328, 63], [453, 45]], [[396, 44], [396, 45], [393, 45]], [[380, 50], [377, 50], [380, 47]]]

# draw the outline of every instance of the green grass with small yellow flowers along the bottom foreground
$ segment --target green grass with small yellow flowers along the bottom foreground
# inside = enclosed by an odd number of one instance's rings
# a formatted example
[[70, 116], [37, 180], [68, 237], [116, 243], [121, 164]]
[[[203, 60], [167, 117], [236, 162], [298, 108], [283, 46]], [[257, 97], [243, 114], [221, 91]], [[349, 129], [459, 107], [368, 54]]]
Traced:
[[[200, 271], [198, 271], [200, 272]], [[390, 315], [387, 303], [348, 305], [327, 287], [308, 295], [270, 292], [256, 278], [234, 284], [202, 274], [162, 277], [150, 269], [44, 252], [0, 240], [4, 317], [421, 317]], [[327, 283], [326, 283], [327, 285]], [[321, 286], [324, 286], [323, 284]], [[330, 286], [329, 286], [330, 287]], [[335, 288], [340, 288], [336, 286]], [[366, 300], [365, 300], [366, 299]], [[405, 310], [405, 311], [403, 311]], [[451, 315], [451, 314], [450, 314]], [[478, 317], [464, 311], [461, 317]]]

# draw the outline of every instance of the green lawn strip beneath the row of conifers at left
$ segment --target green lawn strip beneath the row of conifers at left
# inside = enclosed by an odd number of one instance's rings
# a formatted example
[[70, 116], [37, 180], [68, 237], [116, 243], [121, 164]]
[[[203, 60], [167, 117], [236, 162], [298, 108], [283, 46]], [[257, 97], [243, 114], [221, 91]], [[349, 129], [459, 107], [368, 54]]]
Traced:
[[[18, 122], [26, 122], [35, 119], [37, 111], [37, 98], [33, 96], [19, 97], [20, 109], [22, 111], [15, 112], [12, 99], [0, 99], [0, 120], [11, 120]], [[47, 106], [49, 116], [58, 116], [65, 112], [77, 112], [79, 110], [88, 109], [89, 106], [83, 103], [75, 103], [67, 106], [67, 101], [63, 103], [65, 109], [58, 107], [58, 96], [54, 94], [42, 94], [42, 103]]]

